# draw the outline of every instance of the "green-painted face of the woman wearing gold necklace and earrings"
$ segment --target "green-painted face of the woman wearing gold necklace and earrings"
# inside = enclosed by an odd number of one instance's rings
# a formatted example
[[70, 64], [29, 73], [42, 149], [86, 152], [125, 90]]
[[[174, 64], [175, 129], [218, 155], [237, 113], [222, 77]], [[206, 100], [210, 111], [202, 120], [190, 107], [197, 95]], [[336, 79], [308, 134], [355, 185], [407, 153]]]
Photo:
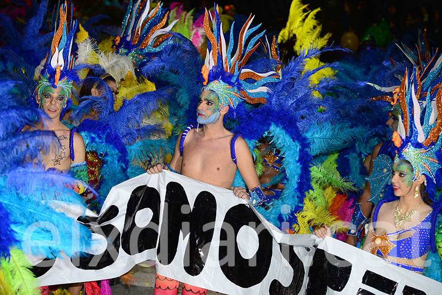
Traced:
[[405, 160], [399, 160], [393, 165], [391, 183], [394, 195], [402, 197], [410, 193], [413, 186], [413, 167]]

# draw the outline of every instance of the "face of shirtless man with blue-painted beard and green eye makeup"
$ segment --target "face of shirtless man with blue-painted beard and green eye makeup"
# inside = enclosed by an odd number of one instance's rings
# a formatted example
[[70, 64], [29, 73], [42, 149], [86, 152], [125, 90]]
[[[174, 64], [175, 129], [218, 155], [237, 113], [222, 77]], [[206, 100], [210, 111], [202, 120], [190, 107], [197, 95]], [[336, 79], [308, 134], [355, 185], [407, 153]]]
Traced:
[[199, 124], [208, 125], [218, 121], [221, 113], [220, 99], [218, 94], [212, 90], [204, 90], [199, 95], [198, 107], [196, 109], [196, 121]]

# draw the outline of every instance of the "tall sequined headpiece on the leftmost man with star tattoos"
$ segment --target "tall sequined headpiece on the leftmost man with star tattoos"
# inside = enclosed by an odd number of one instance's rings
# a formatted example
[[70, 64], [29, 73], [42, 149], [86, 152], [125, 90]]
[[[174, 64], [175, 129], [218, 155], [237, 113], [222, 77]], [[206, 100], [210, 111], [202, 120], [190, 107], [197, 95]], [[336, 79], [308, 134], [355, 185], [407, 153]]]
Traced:
[[[38, 99], [40, 99], [43, 89], [47, 86], [51, 86], [53, 88], [60, 87], [64, 89], [66, 102], [70, 101], [72, 83], [77, 77], [76, 72], [72, 70], [75, 58], [71, 55], [74, 33], [77, 29], [77, 21], [72, 22], [72, 8], [70, 22], [66, 20], [66, 16], [67, 5], [65, 2], [60, 5], [60, 21], [58, 29], [54, 32], [51, 49], [46, 55], [44, 66], [37, 82], [37, 87], [34, 90], [34, 94]], [[65, 104], [64, 108], [66, 106], [67, 104]]]

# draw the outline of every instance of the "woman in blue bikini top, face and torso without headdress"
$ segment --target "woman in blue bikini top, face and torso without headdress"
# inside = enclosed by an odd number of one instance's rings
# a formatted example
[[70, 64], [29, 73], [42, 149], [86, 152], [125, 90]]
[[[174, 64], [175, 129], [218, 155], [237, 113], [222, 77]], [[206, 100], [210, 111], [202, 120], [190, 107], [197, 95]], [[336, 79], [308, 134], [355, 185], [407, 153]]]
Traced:
[[433, 210], [425, 191], [425, 175], [413, 181], [413, 166], [405, 159], [393, 165], [391, 185], [398, 200], [380, 202], [372, 215], [363, 249], [388, 263], [422, 273], [431, 248]]

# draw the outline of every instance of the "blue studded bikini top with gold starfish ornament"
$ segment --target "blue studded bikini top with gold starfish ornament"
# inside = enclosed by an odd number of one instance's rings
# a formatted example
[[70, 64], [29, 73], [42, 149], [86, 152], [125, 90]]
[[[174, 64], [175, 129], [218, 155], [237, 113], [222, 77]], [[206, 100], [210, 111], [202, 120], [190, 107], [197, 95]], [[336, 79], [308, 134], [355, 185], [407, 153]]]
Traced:
[[[378, 206], [382, 205], [384, 202], [380, 203]], [[376, 222], [379, 210], [376, 210], [373, 214], [373, 222]], [[419, 258], [430, 251], [431, 240], [431, 216], [433, 211], [430, 211], [418, 224], [400, 229], [394, 232], [384, 232], [377, 236], [372, 232], [372, 241], [376, 244], [376, 239], [379, 237], [379, 241], [383, 241], [382, 247], [372, 247], [372, 253], [380, 256], [382, 258], [396, 257], [402, 259], [415, 259]], [[391, 239], [391, 236], [397, 236], [402, 233], [412, 232], [410, 236]]]

